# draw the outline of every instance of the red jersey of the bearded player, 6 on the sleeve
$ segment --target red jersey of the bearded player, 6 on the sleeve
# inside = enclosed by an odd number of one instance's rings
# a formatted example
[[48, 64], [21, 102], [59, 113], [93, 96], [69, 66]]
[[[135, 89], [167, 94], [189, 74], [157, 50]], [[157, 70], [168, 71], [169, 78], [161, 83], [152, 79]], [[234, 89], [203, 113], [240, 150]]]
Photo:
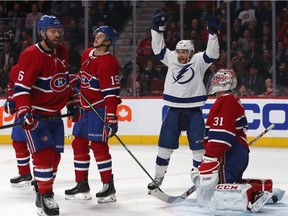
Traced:
[[21, 53], [18, 65], [13, 95], [17, 110], [30, 107], [43, 115], [58, 114], [71, 93], [67, 50], [58, 46], [47, 52], [38, 43]]

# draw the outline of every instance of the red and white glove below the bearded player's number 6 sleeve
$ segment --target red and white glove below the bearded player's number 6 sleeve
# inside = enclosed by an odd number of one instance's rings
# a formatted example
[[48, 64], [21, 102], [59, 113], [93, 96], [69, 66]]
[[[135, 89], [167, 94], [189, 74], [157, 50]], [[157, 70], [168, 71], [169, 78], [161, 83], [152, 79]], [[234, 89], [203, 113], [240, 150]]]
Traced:
[[20, 119], [20, 122], [23, 122], [23, 128], [25, 130], [34, 130], [38, 127], [38, 120], [33, 117], [31, 109], [28, 107], [20, 108], [17, 113], [17, 118]]

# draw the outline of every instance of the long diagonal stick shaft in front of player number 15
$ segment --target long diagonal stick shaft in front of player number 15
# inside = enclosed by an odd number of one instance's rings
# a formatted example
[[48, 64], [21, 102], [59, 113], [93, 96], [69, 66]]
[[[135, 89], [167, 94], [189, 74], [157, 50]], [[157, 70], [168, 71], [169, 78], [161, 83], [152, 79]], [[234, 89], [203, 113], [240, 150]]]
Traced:
[[[86, 103], [88, 104], [88, 106], [93, 110], [93, 112], [98, 116], [98, 118], [101, 120], [101, 122], [104, 125], [107, 125], [107, 123], [104, 121], [104, 119], [102, 118], [102, 116], [97, 112], [97, 110], [92, 106], [92, 104], [87, 100], [87, 98], [79, 91], [76, 90], [80, 96], [86, 101]], [[137, 160], [137, 158], [132, 154], [132, 152], [129, 150], [129, 148], [124, 144], [124, 142], [119, 138], [119, 136], [117, 134], [114, 134], [114, 136], [116, 137], [116, 139], [121, 143], [121, 145], [126, 149], [126, 151], [131, 155], [131, 157], [136, 161], [136, 163], [142, 168], [142, 170], [147, 174], [147, 176], [155, 183], [155, 185], [157, 185], [157, 183], [154, 181], [154, 179], [152, 178], [152, 176], [148, 173], [148, 171], [142, 166], [142, 164]], [[160, 187], [157, 185], [157, 188], [159, 191], [161, 191], [163, 193], [163, 191], [160, 189]]]

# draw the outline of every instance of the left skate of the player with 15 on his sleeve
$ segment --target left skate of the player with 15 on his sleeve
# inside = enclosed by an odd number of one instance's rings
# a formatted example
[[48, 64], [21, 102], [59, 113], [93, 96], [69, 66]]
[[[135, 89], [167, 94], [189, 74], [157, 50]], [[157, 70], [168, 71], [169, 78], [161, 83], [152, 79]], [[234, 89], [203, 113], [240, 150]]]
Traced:
[[90, 200], [92, 196], [90, 194], [90, 187], [88, 181], [77, 182], [77, 185], [69, 190], [65, 190], [65, 199], [67, 200]]

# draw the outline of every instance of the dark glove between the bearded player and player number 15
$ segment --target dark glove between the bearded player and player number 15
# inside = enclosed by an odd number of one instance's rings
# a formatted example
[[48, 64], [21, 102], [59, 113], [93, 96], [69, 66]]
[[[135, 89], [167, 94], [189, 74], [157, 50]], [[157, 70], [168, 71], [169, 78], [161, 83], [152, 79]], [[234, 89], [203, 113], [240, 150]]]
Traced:
[[84, 108], [80, 104], [79, 94], [74, 94], [73, 97], [68, 101], [67, 113], [72, 115], [69, 116], [69, 119], [72, 122], [77, 122], [82, 118], [84, 114]]

